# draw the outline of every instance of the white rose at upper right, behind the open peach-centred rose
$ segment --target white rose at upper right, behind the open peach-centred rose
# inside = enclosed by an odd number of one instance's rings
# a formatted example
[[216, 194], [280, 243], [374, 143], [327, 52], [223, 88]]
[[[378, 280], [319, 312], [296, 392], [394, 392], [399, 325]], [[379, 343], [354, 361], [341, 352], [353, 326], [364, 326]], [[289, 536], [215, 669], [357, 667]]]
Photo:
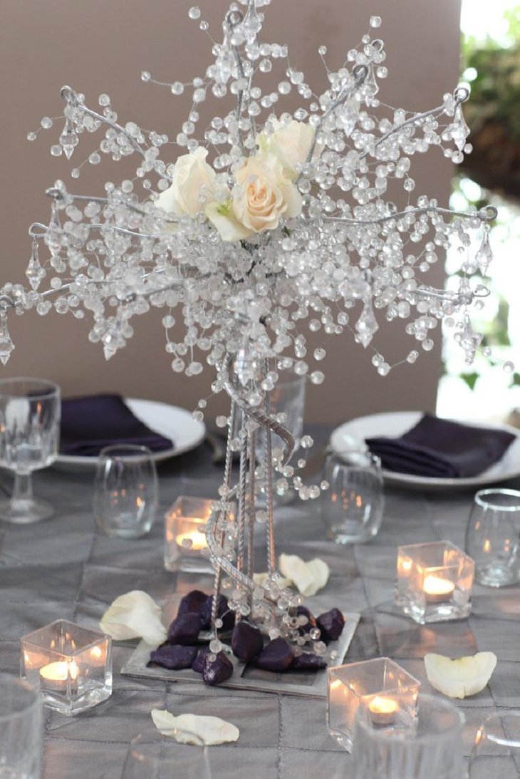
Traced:
[[314, 141], [314, 129], [305, 122], [292, 119], [288, 125], [272, 117], [272, 132], [263, 129], [258, 136], [258, 148], [262, 153], [274, 154], [282, 163], [286, 175], [296, 178], [298, 168], [306, 161]]

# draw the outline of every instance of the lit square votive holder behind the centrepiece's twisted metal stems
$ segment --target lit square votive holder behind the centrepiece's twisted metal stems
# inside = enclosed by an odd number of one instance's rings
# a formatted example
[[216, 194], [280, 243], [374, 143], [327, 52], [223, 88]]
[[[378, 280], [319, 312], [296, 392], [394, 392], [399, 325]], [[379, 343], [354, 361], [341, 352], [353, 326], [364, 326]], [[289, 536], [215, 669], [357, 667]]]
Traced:
[[214, 500], [179, 495], [164, 516], [164, 567], [168, 571], [211, 573], [206, 522]]

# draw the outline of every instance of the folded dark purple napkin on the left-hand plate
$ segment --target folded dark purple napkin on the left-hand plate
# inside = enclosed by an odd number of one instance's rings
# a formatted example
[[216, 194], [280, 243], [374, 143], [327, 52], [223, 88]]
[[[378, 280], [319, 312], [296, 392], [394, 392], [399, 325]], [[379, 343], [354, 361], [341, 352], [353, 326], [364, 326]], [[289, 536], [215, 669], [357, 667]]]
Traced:
[[61, 401], [61, 454], [96, 457], [111, 444], [148, 446], [153, 452], [173, 442], [146, 427], [119, 395], [86, 395]]

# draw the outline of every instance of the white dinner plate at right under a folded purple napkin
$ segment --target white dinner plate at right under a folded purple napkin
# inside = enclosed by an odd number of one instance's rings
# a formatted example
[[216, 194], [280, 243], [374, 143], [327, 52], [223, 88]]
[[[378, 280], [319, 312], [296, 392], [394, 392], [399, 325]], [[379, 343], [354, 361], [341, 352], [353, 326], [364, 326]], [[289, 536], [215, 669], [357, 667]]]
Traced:
[[[357, 449], [360, 446], [366, 448], [364, 440], [379, 435], [388, 435], [389, 438], [397, 438], [420, 420], [422, 411], [390, 411], [386, 414], [369, 414], [367, 417], [352, 419], [339, 425], [332, 432], [330, 447], [332, 452], [341, 454], [349, 449]], [[413, 476], [412, 474], [400, 474], [397, 471], [383, 470], [383, 476], [388, 484], [399, 485], [408, 488], [428, 489], [460, 489], [469, 487], [482, 487], [494, 484], [497, 481], [515, 478], [520, 475], [520, 430], [508, 425], [480, 425], [478, 422], [469, 423], [474, 427], [497, 428], [508, 430], [516, 436], [515, 441], [508, 447], [501, 460], [498, 460], [486, 471], [478, 476], [468, 478], [434, 478], [429, 476]]]

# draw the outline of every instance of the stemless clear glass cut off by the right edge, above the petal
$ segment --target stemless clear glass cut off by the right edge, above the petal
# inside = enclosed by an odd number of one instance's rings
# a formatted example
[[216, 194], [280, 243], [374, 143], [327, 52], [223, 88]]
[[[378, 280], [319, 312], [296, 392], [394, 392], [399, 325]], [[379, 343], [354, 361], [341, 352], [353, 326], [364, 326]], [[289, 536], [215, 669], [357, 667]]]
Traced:
[[477, 492], [466, 530], [466, 552], [475, 560], [475, 579], [504, 587], [520, 579], [520, 492]]

